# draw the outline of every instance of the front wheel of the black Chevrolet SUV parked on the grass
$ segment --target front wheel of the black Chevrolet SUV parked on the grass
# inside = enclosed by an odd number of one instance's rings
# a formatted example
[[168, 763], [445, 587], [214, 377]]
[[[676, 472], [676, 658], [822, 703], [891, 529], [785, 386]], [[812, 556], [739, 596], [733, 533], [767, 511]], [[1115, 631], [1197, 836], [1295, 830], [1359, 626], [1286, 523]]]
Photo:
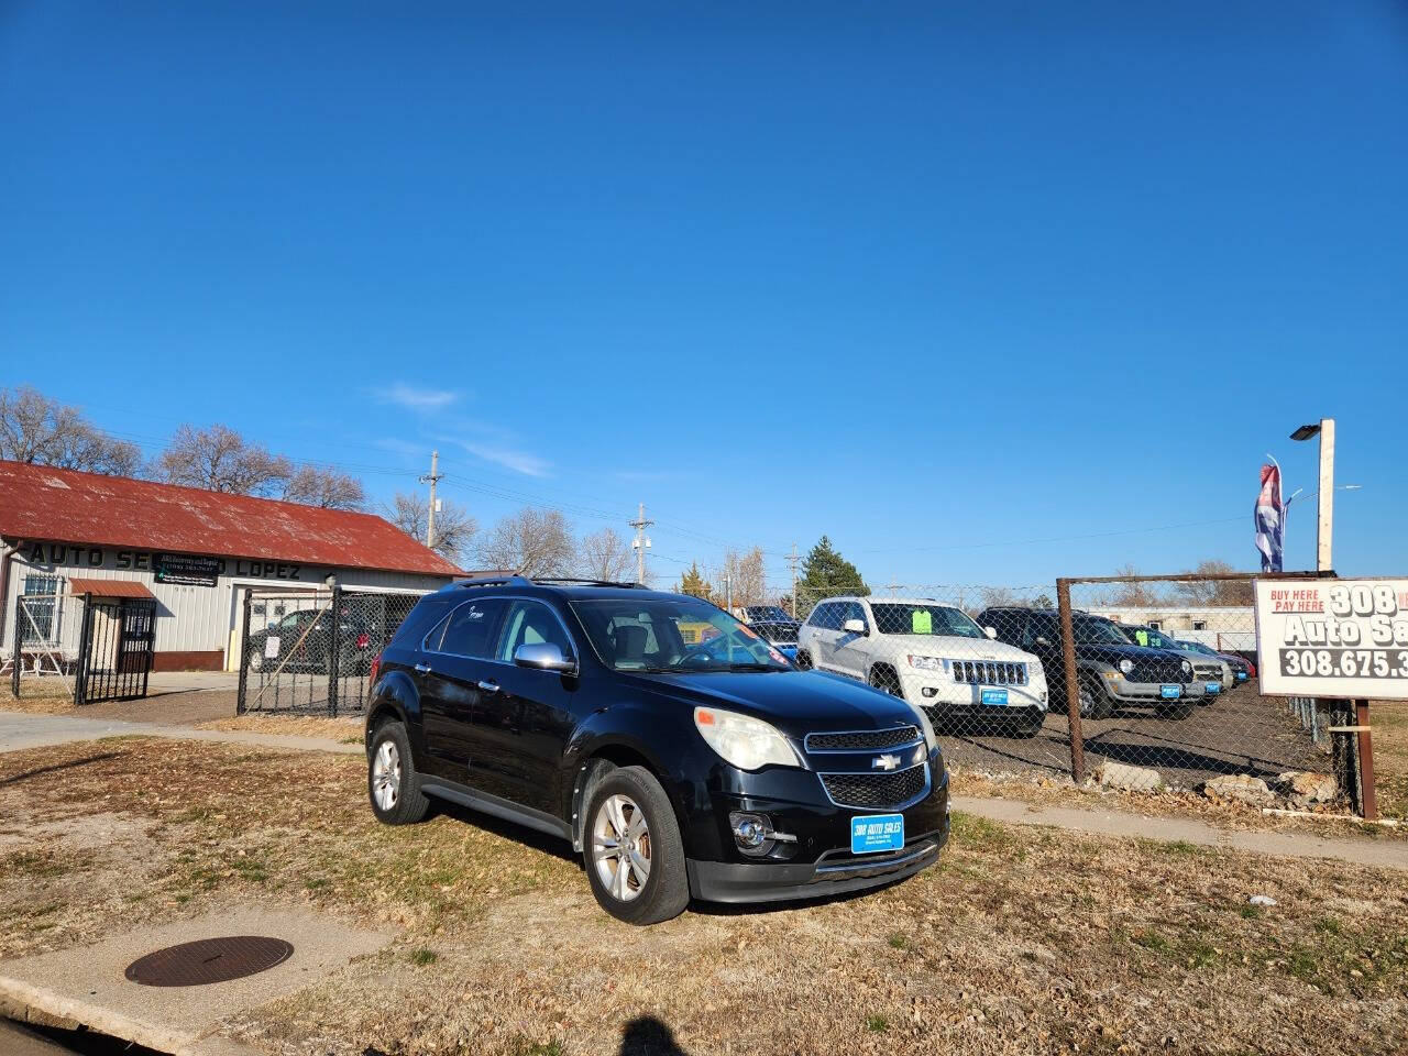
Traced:
[[611, 769], [593, 783], [582, 855], [591, 894], [618, 921], [660, 924], [690, 904], [679, 821], [643, 766]]

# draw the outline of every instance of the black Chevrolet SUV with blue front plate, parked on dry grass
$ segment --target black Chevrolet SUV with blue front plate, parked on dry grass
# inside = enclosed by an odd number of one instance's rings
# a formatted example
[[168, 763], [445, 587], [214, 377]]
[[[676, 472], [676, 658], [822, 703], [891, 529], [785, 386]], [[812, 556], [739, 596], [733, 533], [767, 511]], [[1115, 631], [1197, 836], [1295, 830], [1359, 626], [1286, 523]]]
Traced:
[[888, 883], [949, 834], [922, 712], [634, 584], [513, 576], [427, 596], [373, 663], [366, 748], [382, 821], [418, 821], [434, 796], [569, 839], [632, 924], [690, 897]]

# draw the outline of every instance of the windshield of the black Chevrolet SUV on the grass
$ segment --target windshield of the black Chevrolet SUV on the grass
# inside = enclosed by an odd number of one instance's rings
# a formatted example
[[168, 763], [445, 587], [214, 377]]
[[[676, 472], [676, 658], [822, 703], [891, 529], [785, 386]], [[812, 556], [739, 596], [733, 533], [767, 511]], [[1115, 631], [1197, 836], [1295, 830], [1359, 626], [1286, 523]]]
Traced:
[[787, 658], [707, 601], [687, 597], [572, 603], [597, 656], [618, 672], [786, 672]]

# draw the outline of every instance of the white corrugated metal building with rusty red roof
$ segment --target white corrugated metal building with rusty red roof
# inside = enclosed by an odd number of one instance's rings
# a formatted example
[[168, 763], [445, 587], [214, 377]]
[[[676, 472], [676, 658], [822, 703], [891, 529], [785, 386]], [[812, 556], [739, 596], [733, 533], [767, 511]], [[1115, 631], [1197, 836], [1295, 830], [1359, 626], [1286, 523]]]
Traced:
[[[46, 639], [77, 648], [77, 597], [156, 598], [156, 670], [238, 659], [245, 593], [429, 591], [462, 574], [372, 514], [0, 460], [0, 655]], [[56, 596], [38, 624], [15, 597]], [[45, 614], [45, 610], [52, 610]]]

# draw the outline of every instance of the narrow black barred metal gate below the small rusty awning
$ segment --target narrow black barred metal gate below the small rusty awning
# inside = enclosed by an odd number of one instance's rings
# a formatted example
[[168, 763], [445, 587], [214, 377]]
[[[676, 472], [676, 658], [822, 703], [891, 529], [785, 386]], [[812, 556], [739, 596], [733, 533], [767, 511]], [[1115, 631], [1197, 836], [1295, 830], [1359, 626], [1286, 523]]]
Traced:
[[156, 601], [86, 598], [79, 634], [73, 703], [146, 696], [156, 634]]

